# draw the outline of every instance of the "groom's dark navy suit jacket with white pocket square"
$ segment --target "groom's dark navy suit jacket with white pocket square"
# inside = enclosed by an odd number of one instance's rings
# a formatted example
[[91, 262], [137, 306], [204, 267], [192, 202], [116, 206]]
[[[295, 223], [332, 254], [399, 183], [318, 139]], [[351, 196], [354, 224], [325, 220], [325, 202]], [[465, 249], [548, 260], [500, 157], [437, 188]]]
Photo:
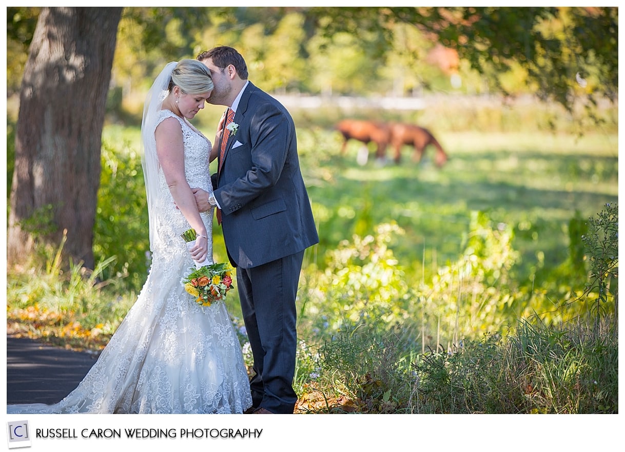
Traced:
[[250, 82], [234, 122], [212, 175], [232, 265], [256, 267], [319, 242], [289, 112]]

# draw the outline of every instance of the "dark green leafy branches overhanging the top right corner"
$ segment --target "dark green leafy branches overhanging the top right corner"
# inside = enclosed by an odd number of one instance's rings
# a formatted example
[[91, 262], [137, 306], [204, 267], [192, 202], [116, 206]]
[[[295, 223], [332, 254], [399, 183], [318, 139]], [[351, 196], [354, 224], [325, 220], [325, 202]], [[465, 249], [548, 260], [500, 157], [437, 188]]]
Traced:
[[577, 97], [614, 100], [618, 87], [615, 7], [454, 7], [419, 9], [420, 26], [456, 49], [491, 82], [516, 65], [541, 99], [569, 111]]

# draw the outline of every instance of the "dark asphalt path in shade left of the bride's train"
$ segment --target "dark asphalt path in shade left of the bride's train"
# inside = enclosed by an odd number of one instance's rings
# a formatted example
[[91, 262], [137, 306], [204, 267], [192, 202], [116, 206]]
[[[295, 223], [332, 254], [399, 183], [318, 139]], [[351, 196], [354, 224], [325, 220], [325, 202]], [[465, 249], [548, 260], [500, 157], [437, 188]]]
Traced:
[[6, 403], [56, 403], [96, 363], [91, 353], [6, 337]]

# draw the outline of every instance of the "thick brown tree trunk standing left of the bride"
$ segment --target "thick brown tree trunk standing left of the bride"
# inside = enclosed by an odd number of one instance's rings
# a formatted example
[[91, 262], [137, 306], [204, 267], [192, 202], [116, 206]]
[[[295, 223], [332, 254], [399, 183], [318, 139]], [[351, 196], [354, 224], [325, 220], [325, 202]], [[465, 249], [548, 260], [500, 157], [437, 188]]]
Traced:
[[101, 135], [121, 7], [41, 10], [22, 79], [7, 263], [59, 247], [93, 268]]

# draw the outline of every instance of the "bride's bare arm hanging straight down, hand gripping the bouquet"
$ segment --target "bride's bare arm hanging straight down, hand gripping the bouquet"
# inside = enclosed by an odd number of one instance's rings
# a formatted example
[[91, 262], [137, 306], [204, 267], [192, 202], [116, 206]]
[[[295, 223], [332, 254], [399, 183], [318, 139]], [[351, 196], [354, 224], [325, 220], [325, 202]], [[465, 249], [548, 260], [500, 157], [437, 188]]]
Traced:
[[154, 136], [156, 154], [169, 191], [184, 218], [196, 230], [199, 239], [190, 250], [191, 257], [196, 261], [203, 261], [208, 254], [208, 234], [197, 210], [191, 187], [184, 176], [184, 144], [180, 123], [175, 118], [165, 119], [156, 127]]

